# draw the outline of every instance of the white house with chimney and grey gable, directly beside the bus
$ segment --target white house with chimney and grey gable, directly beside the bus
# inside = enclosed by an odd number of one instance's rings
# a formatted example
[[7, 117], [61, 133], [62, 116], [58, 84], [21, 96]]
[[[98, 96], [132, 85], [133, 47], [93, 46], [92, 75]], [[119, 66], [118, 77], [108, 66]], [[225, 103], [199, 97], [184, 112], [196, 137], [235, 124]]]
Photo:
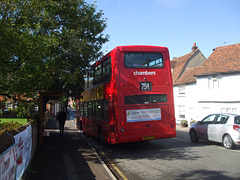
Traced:
[[194, 74], [201, 69], [206, 61], [202, 52], [193, 44], [190, 53], [171, 60], [175, 117], [181, 120], [195, 120], [197, 96], [196, 77]]

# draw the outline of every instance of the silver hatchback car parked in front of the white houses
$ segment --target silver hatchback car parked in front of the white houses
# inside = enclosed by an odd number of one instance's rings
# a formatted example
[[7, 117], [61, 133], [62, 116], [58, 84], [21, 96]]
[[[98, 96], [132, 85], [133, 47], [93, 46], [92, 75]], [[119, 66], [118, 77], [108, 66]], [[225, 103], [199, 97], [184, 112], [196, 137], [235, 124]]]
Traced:
[[210, 114], [190, 126], [192, 142], [199, 139], [223, 143], [227, 149], [240, 145], [240, 115], [230, 113]]

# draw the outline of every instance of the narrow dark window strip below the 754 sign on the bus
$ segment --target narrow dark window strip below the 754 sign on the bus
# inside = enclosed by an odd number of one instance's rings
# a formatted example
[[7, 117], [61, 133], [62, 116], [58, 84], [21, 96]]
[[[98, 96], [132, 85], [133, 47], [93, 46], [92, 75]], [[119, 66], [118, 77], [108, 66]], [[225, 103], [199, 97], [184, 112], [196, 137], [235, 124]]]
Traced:
[[142, 94], [125, 96], [125, 104], [148, 104], [148, 103], [163, 103], [167, 102], [166, 94]]

